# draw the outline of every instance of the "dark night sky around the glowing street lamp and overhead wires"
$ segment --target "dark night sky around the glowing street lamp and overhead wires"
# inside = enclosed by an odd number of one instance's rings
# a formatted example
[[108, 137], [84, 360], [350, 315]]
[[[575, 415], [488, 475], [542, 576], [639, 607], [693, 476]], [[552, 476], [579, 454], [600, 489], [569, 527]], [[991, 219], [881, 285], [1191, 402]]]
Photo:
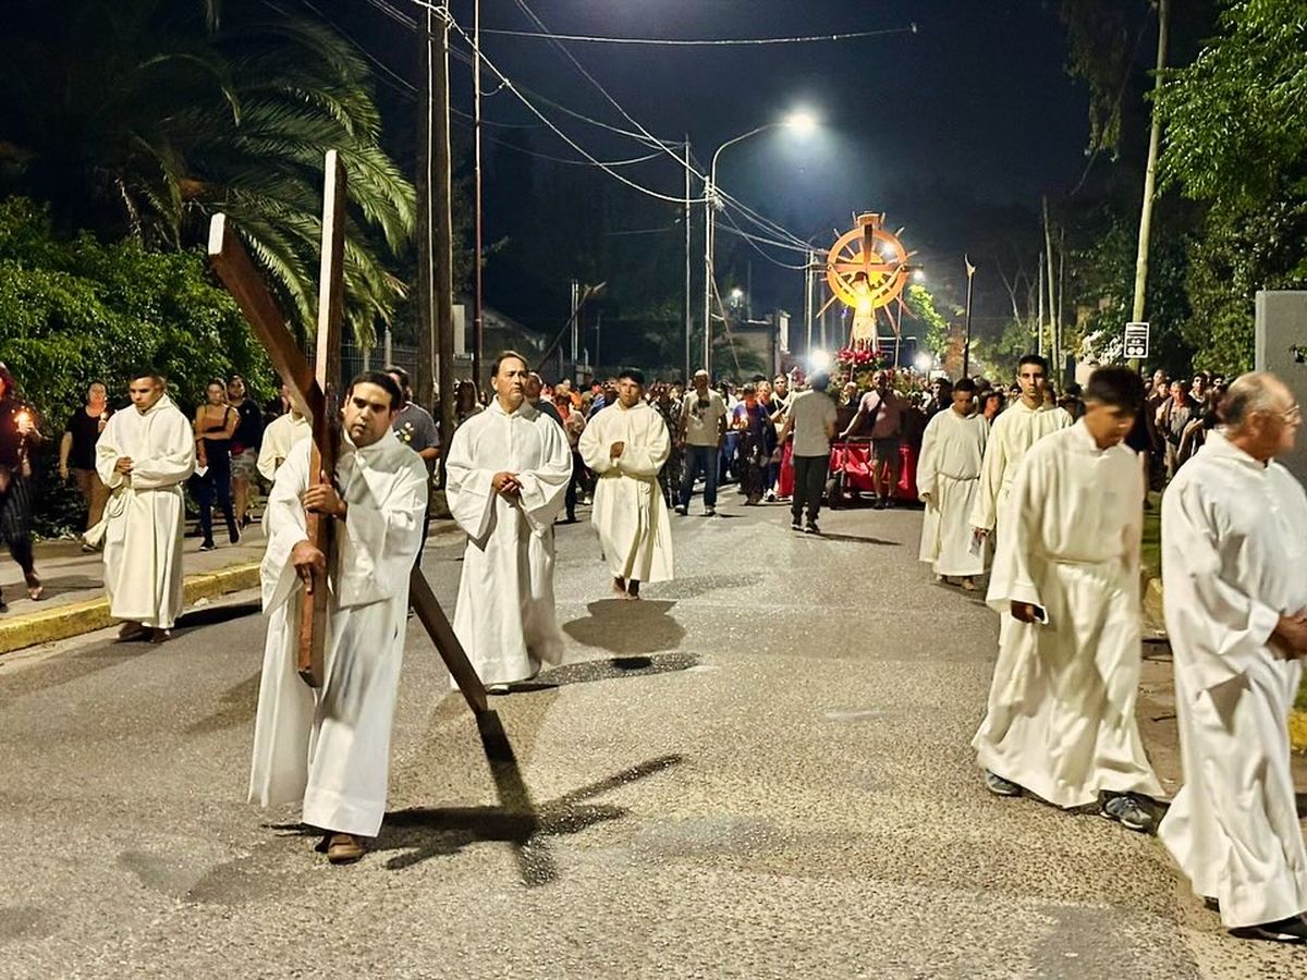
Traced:
[[[410, 14], [409, 0], [387, 0]], [[416, 80], [412, 38], [369, 0], [318, 0], [382, 60]], [[724, 140], [805, 108], [822, 120], [808, 140], [772, 131], [721, 154], [723, 188], [800, 237], [851, 226], [884, 210], [941, 280], [958, 281], [961, 255], [987, 233], [983, 205], [1036, 208], [1085, 167], [1084, 86], [1064, 71], [1067, 41], [1048, 0], [531, 0], [558, 33], [741, 38], [839, 31], [915, 33], [810, 44], [634, 47], [570, 44], [606, 90], [660, 137], [689, 135], [703, 166]], [[469, 30], [471, 0], [454, 4]], [[535, 30], [512, 0], [485, 0], [485, 27]], [[548, 42], [486, 35], [486, 55], [524, 86], [605, 122], [629, 125]], [[455, 105], [471, 108], [469, 71], [454, 63]], [[488, 120], [532, 122], [512, 94], [485, 101]], [[640, 155], [638, 142], [552, 112], [605, 159]], [[488, 127], [493, 136], [507, 128]], [[537, 150], [575, 155], [544, 128]], [[491, 158], [497, 152], [488, 146]], [[622, 172], [680, 195], [670, 161]], [[635, 193], [631, 191], [631, 193]], [[971, 205], [975, 206], [971, 206]], [[818, 238], [818, 242], [823, 240]], [[791, 256], [782, 256], [787, 260]], [[759, 301], [793, 308], [795, 276], [754, 268]], [[951, 291], [951, 290], [950, 290]]]

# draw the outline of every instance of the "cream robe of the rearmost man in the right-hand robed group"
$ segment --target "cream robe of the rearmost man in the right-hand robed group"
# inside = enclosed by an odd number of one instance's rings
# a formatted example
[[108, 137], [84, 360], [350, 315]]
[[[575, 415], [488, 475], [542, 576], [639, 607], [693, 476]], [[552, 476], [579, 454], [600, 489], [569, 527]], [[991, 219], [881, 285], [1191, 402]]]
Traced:
[[916, 491], [925, 500], [920, 558], [936, 575], [984, 575], [989, 542], [972, 550], [971, 511], [989, 422], [980, 413], [936, 412], [921, 435]]

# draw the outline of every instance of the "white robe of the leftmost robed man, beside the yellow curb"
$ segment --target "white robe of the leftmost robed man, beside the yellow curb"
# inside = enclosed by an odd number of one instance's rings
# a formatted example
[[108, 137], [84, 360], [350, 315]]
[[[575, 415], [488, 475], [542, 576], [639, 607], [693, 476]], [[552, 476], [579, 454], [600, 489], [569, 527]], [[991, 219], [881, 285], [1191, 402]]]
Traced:
[[[132, 472], [114, 469], [132, 459]], [[182, 483], [195, 472], [195, 433], [165, 395], [145, 412], [115, 412], [95, 443], [105, 506], [105, 591], [115, 619], [171, 630], [182, 614]]]

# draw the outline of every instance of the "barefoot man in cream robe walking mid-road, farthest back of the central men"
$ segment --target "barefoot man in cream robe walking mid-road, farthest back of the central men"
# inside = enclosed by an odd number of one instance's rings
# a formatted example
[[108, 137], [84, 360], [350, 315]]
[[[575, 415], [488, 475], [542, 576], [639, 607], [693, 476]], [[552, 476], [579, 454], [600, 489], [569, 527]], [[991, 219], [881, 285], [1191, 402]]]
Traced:
[[640, 583], [672, 578], [672, 527], [657, 474], [672, 449], [667, 422], [644, 402], [644, 375], [617, 379], [617, 404], [582, 433], [582, 459], [595, 473], [591, 523], [613, 575], [613, 592], [639, 598]]

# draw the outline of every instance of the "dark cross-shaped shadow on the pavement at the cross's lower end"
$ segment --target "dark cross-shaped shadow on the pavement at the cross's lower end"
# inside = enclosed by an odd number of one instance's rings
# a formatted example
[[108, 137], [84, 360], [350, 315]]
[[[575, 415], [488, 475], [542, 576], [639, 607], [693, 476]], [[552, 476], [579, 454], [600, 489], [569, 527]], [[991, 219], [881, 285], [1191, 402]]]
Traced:
[[579, 834], [599, 823], [621, 819], [629, 813], [625, 806], [586, 804], [586, 800], [685, 760], [682, 755], [660, 755], [537, 808], [521, 780], [521, 771], [499, 716], [489, 711], [478, 719], [477, 727], [499, 794], [499, 806], [410, 808], [387, 814], [372, 849], [403, 852], [386, 862], [389, 870], [403, 870], [433, 857], [454, 855], [478, 841], [502, 841], [511, 844], [516, 852], [523, 885], [549, 885], [558, 879], [549, 838]]

